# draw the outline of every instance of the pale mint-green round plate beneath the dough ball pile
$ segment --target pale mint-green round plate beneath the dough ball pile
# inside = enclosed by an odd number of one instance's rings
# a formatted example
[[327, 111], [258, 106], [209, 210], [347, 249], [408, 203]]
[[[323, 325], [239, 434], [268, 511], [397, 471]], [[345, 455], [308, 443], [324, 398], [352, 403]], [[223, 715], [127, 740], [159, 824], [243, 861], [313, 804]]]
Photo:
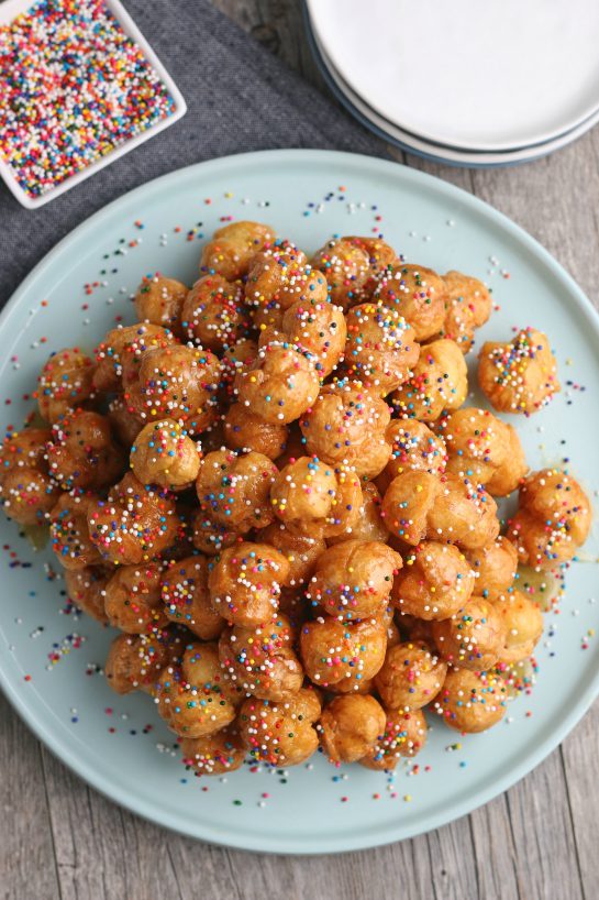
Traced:
[[[29, 276], [0, 319], [2, 425], [20, 425], [32, 409], [23, 397], [51, 350], [91, 349], [115, 316], [133, 321], [130, 296], [144, 273], [159, 270], [191, 283], [201, 235], [229, 217], [269, 222], [308, 251], [333, 233], [381, 231], [409, 261], [487, 281], [501, 308], [480, 337], [506, 339], [512, 326], [542, 328], [565, 387], [548, 408], [518, 419], [531, 465], [568, 457], [594, 493], [599, 327], [579, 288], [532, 238], [480, 200], [413, 169], [342, 153], [273, 151], [203, 163], [127, 194], [76, 229]], [[588, 562], [597, 557], [594, 535], [581, 553], [587, 562], [568, 572], [562, 614], [546, 617], [536, 687], [491, 732], [459, 738], [431, 722], [429, 743], [415, 760], [419, 772], [411, 761], [392, 780], [359, 766], [335, 769], [320, 755], [284, 773], [247, 766], [226, 780], [193, 778], [148, 698], [119, 698], [98, 673], [112, 634], [65, 613], [52, 553], [35, 552], [3, 518], [0, 530], [0, 678], [7, 695], [36, 735], [95, 788], [206, 841], [331, 853], [434, 828], [522, 778], [598, 693], [599, 638], [588, 636], [592, 628], [599, 635], [597, 570]], [[461, 747], [452, 750], [456, 743]]]

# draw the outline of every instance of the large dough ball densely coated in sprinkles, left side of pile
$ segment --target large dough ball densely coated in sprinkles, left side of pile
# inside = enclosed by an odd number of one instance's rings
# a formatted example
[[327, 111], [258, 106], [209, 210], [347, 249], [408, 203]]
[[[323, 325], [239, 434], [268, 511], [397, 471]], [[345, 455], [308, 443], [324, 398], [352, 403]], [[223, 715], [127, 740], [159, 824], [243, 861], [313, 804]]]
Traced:
[[175, 501], [133, 472], [115, 484], [108, 500], [88, 512], [89, 536], [103, 559], [123, 566], [154, 559], [177, 535]]

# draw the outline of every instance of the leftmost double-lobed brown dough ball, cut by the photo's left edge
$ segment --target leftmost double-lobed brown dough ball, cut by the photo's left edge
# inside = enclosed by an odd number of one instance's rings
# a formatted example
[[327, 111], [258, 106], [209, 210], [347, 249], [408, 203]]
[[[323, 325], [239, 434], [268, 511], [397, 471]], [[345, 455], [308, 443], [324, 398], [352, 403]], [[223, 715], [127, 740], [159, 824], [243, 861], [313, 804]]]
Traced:
[[0, 449], [0, 503], [20, 525], [41, 525], [56, 505], [60, 489], [48, 471], [49, 428], [10, 431]]

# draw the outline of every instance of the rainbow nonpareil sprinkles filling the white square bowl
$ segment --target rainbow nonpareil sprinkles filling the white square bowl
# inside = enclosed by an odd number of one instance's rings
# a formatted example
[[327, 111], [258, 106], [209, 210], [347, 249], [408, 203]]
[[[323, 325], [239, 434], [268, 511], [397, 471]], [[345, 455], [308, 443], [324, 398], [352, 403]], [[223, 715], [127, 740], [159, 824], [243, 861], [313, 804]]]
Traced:
[[40, 0], [0, 26], [0, 155], [30, 197], [175, 110], [104, 0]]

